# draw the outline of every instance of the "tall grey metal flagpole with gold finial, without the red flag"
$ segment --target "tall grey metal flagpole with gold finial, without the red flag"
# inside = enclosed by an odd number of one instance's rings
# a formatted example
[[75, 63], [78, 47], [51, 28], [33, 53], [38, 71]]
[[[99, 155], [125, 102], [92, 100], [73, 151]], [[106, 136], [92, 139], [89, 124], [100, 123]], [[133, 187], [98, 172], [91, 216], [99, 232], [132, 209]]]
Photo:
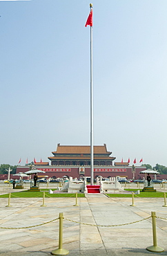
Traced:
[[[90, 3], [90, 12], [92, 3]], [[92, 81], [92, 26], [90, 26], [90, 185], [93, 185], [93, 81]]]

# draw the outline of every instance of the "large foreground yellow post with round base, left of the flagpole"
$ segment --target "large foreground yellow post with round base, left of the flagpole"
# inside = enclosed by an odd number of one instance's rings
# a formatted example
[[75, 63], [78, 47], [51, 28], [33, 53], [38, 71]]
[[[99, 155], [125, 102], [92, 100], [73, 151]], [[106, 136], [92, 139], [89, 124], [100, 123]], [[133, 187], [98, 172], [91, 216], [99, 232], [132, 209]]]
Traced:
[[52, 250], [52, 255], [67, 255], [69, 250], [63, 249], [63, 212], [59, 213], [59, 249]]

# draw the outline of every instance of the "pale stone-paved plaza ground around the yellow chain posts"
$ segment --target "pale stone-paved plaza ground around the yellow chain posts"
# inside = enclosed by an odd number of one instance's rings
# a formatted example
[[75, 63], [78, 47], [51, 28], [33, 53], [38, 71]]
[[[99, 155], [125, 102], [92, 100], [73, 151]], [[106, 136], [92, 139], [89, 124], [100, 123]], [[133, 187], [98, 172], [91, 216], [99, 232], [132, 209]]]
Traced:
[[[142, 221], [150, 217], [151, 211], [155, 211], [157, 217], [167, 218], [167, 207], [162, 207], [163, 198], [135, 197], [136, 206], [130, 206], [131, 198], [86, 194], [85, 198], [78, 198], [79, 206], [73, 206], [75, 198], [46, 198], [46, 207], [41, 207], [42, 203], [41, 198], [16, 197], [11, 199], [11, 207], [6, 207], [8, 199], [0, 199], [1, 256], [50, 255], [58, 248], [59, 219], [52, 220], [59, 217], [59, 212], [63, 212], [65, 218], [63, 248], [69, 250], [68, 255], [167, 255], [167, 221], [156, 219], [157, 245], [164, 248], [163, 253], [146, 250], [153, 246], [152, 220]], [[36, 226], [48, 221], [51, 222]], [[28, 228], [11, 230], [2, 227]]]

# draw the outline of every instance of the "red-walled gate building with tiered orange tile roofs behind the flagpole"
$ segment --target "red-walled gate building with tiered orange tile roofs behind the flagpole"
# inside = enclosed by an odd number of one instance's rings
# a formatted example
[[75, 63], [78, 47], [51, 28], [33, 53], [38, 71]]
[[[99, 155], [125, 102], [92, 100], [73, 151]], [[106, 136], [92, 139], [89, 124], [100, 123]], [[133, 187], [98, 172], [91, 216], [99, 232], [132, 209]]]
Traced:
[[[57, 144], [57, 150], [52, 152], [53, 156], [49, 156], [51, 165], [48, 162], [35, 163], [35, 168], [43, 170], [45, 174], [41, 176], [62, 177], [72, 176], [77, 179], [82, 176], [90, 176], [90, 146], [72, 146]], [[132, 172], [132, 167], [128, 163], [119, 163], [115, 161], [114, 156], [110, 156], [112, 152], [108, 152], [106, 144], [94, 146], [94, 178], [97, 176], [114, 177], [124, 176], [127, 179], [141, 179], [142, 170], [146, 170], [144, 166], [136, 166], [135, 172]], [[26, 172], [29, 170], [28, 166], [18, 166], [18, 172]]]

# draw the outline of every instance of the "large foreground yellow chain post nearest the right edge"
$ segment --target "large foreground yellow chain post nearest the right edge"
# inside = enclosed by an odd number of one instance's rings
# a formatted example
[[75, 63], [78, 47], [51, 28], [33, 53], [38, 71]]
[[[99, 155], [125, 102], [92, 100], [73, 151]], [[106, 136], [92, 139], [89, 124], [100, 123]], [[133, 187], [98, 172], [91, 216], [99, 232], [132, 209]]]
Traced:
[[152, 226], [153, 226], [153, 246], [148, 246], [146, 249], [153, 253], [162, 253], [164, 248], [157, 246], [157, 232], [156, 232], [156, 213], [151, 212]]

